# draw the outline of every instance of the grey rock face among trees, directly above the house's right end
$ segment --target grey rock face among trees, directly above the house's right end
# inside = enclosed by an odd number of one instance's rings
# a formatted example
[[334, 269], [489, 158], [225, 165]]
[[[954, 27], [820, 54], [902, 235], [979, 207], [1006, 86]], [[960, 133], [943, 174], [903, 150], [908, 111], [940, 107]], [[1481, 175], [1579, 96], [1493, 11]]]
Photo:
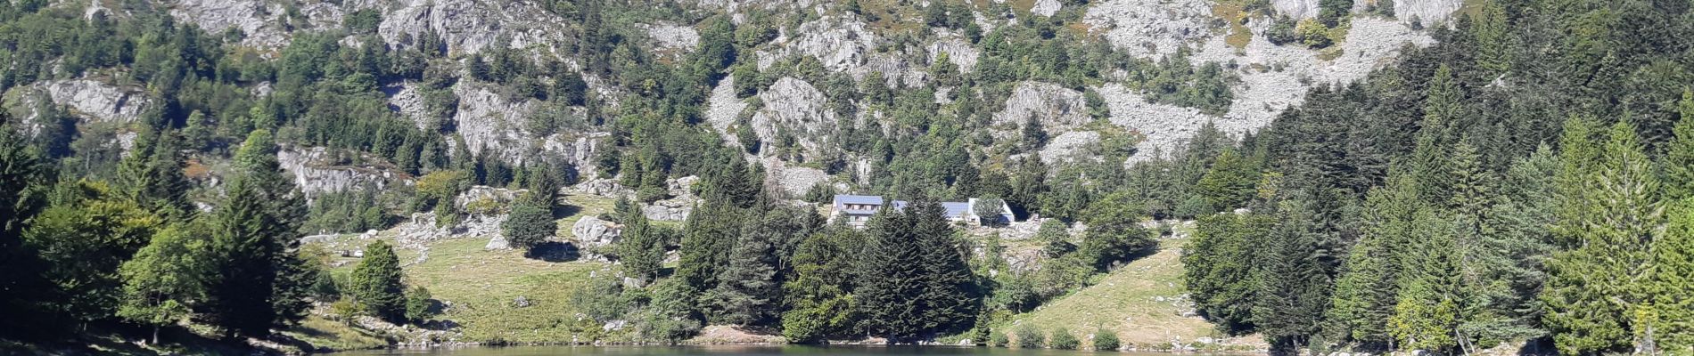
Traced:
[[1049, 133], [1069, 132], [1089, 120], [1082, 93], [1052, 83], [1025, 81], [1011, 89], [1006, 110], [994, 113], [994, 125], [1021, 128], [1030, 116]]

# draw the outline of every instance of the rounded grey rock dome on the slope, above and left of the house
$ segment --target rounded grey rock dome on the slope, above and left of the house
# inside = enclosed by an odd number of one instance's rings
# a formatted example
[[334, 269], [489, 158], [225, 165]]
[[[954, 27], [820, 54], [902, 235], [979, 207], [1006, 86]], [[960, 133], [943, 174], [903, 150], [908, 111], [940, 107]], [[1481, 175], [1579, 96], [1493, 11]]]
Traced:
[[783, 135], [793, 135], [800, 145], [815, 154], [827, 145], [827, 137], [835, 130], [835, 111], [827, 110], [823, 91], [811, 83], [783, 78], [769, 89], [759, 93], [764, 110], [752, 115], [752, 130], [761, 142], [779, 142]]

